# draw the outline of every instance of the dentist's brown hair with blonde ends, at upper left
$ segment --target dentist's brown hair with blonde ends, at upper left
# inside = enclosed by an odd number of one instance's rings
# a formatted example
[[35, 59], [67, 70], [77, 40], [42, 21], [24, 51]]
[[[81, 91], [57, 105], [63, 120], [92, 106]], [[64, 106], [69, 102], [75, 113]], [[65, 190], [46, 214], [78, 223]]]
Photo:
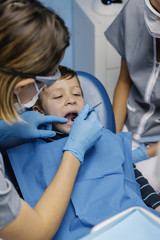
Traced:
[[0, 117], [3, 120], [10, 123], [18, 119], [13, 90], [22, 77], [14, 71], [42, 76], [55, 71], [69, 39], [64, 21], [37, 0], [0, 0]]

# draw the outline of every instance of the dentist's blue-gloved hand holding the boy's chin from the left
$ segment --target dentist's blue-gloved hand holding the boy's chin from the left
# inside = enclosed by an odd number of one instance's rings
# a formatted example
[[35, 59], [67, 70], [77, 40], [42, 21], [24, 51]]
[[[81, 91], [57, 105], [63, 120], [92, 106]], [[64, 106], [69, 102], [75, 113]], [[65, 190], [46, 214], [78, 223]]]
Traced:
[[[66, 118], [57, 116], [44, 116], [39, 112], [27, 111], [21, 114], [21, 118], [25, 122], [15, 122], [12, 125], [8, 125], [3, 120], [0, 120], [0, 140], [4, 138], [21, 138], [21, 139], [33, 139], [33, 138], [48, 138], [56, 135], [54, 131], [51, 131], [50, 126], [52, 122], [66, 123]], [[49, 125], [50, 123], [50, 125]], [[47, 124], [47, 129], [38, 129], [39, 126]]]

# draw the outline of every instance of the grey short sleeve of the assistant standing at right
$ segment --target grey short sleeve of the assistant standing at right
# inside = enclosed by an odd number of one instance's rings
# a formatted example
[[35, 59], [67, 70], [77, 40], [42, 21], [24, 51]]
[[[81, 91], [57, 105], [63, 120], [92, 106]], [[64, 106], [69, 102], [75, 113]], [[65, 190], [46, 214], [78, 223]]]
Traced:
[[[142, 43], [146, 25], [144, 0], [128, 0], [116, 19], [105, 31], [107, 40], [127, 62], [132, 61]], [[138, 52], [139, 53], [139, 52]]]

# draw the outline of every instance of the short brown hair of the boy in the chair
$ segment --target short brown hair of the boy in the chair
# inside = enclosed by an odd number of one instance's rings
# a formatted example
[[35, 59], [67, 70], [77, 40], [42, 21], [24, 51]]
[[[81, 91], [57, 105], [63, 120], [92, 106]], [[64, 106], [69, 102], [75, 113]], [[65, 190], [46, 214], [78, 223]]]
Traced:
[[[79, 84], [79, 87], [81, 89], [82, 96], [83, 96], [83, 91], [82, 91], [81, 84], [80, 84], [79, 78], [77, 76], [77, 73], [74, 70], [72, 70], [71, 68], [68, 68], [68, 67], [65, 67], [65, 66], [62, 66], [62, 65], [59, 66], [59, 70], [61, 72], [61, 77], [58, 80], [63, 80], [63, 79], [70, 80], [70, 79], [75, 77], [77, 79], [77, 82]], [[43, 89], [43, 91], [40, 93], [39, 98], [38, 98], [38, 100], [35, 104], [42, 110], [44, 110], [44, 108], [43, 108], [43, 94], [45, 94], [45, 89]]]

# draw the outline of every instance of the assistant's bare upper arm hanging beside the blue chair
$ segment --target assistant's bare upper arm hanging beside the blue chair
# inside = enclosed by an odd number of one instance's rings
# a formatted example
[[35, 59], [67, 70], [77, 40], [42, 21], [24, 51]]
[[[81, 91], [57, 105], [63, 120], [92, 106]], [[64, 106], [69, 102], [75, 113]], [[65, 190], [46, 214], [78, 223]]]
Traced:
[[119, 79], [116, 85], [113, 98], [113, 111], [116, 122], [116, 132], [121, 132], [126, 115], [127, 115], [127, 101], [132, 82], [129, 76], [127, 63], [124, 59], [121, 60], [121, 70]]

